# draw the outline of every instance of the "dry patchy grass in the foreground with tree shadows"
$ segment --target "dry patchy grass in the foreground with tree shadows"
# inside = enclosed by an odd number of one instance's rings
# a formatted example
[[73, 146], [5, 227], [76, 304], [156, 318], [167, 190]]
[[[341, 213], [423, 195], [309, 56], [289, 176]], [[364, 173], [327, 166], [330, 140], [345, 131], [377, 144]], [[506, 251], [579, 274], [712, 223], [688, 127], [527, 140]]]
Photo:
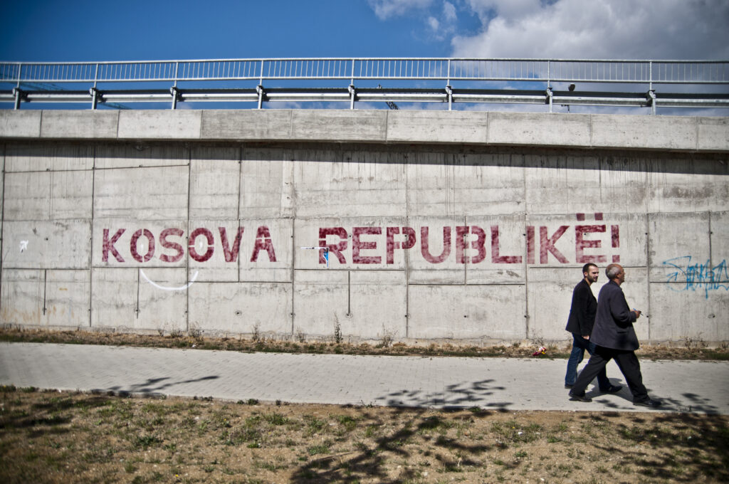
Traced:
[[729, 417], [0, 391], [4, 483], [720, 483]]

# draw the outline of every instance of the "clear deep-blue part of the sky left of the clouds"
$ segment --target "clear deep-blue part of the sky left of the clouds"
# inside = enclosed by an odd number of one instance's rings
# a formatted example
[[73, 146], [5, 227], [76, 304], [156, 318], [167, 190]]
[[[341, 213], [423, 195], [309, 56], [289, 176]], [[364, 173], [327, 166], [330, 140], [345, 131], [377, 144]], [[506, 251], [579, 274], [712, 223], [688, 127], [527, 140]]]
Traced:
[[450, 55], [410, 13], [381, 20], [364, 0], [14, 2], [3, 7], [0, 60]]

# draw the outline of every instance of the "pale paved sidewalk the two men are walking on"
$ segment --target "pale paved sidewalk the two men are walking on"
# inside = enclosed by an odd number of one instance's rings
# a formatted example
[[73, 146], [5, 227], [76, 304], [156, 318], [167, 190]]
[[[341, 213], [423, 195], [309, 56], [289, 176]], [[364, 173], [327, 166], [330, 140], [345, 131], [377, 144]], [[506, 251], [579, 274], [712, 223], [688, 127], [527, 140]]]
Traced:
[[[660, 410], [729, 415], [729, 362], [641, 362]], [[655, 411], [631, 394], [570, 402], [566, 360], [239, 353], [130, 346], [0, 343], [0, 384], [230, 400], [504, 410]], [[614, 362], [613, 384], [625, 385]]]

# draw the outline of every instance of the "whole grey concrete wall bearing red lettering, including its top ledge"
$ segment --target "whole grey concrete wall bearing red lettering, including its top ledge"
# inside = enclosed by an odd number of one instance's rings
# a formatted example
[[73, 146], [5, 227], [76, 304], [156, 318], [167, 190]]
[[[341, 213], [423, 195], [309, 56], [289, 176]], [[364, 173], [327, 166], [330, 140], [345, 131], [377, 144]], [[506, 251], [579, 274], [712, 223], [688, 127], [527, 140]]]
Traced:
[[729, 340], [727, 118], [0, 112], [0, 141], [4, 324], [562, 340], [582, 264], [620, 262], [642, 340]]

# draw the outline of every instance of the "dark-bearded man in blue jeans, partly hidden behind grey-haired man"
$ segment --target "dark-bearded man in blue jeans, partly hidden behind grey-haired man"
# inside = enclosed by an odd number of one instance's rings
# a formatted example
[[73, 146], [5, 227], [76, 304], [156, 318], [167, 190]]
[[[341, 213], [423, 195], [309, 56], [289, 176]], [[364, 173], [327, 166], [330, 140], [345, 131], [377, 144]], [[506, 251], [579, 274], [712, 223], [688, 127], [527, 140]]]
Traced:
[[[566, 389], [571, 389], [574, 380], [577, 379], [577, 366], [585, 357], [585, 350], [590, 355], [595, 353], [595, 343], [590, 341], [590, 334], [595, 324], [597, 300], [590, 286], [593, 282], [597, 282], [599, 276], [600, 269], [592, 262], [588, 262], [582, 266], [582, 281], [578, 282], [572, 290], [572, 305], [569, 308], [569, 318], [565, 328], [572, 333], [573, 339], [572, 353], [567, 360], [567, 373], [564, 376], [564, 388]], [[623, 388], [610, 383], [604, 367], [597, 374], [597, 383], [603, 393], [615, 393]]]

